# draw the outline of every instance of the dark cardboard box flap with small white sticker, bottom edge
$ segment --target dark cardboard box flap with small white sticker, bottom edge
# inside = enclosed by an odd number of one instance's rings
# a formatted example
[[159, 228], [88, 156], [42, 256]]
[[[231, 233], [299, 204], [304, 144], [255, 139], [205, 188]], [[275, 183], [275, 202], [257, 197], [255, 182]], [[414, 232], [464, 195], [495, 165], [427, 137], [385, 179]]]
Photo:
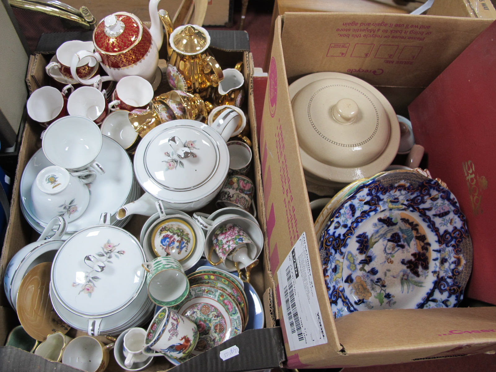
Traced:
[[170, 371], [255, 371], [281, 367], [285, 360], [280, 327], [249, 329]]

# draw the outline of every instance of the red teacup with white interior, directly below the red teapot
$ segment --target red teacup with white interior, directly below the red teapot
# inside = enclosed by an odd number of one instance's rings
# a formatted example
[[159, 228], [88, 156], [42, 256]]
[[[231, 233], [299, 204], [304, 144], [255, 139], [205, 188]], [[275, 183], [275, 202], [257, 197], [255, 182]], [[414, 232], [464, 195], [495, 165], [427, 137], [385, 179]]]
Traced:
[[153, 99], [152, 85], [141, 76], [125, 76], [116, 85], [111, 110], [144, 109]]

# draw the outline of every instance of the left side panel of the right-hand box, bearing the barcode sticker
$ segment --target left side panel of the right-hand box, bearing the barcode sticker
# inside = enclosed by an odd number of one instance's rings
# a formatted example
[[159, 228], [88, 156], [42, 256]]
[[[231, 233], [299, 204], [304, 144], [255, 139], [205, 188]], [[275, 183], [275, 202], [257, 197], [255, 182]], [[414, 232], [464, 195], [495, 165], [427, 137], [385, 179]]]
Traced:
[[[280, 35], [280, 17], [276, 20], [275, 32], [276, 35]], [[272, 56], [277, 56], [279, 61], [283, 60], [280, 38], [274, 39]], [[312, 247], [316, 249], [315, 247], [318, 247], [318, 245], [313, 231], [300, 152], [294, 150], [299, 147], [298, 140], [293, 134], [295, 131], [294, 124], [292, 124], [293, 113], [291, 110], [284, 110], [284, 107], [291, 107], [285, 67], [284, 64], [276, 65], [274, 57], [270, 63], [265, 97], [266, 103], [263, 110], [259, 148], [267, 220], [267, 247], [270, 252], [270, 270], [275, 279], [277, 307], [281, 307], [282, 289], [279, 288], [279, 279], [275, 273], [277, 273], [281, 263], [304, 232], [309, 249], [312, 249]], [[278, 110], [278, 107], [283, 109]], [[275, 127], [269, 128], [268, 126]], [[267, 130], [275, 134], [266, 135]], [[322, 266], [318, 251], [311, 254], [310, 264], [316, 292], [327, 293], [323, 276], [321, 275]], [[327, 354], [329, 353], [329, 348], [337, 352], [341, 350], [341, 346], [337, 339], [327, 296], [318, 298], [318, 306], [321, 321], [327, 331], [327, 344], [319, 345], [315, 348]], [[282, 316], [280, 319], [283, 323]], [[287, 339], [285, 339], [285, 342], [287, 342]]]

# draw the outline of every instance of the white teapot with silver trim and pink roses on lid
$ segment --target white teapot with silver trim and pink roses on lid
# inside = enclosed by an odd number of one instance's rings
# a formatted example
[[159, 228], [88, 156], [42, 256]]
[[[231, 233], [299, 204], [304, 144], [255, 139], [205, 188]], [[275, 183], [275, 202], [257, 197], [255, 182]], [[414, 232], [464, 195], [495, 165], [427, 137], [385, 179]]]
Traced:
[[118, 219], [136, 213], [151, 216], [155, 202], [165, 208], [197, 210], [221, 190], [229, 170], [226, 140], [236, 129], [239, 114], [224, 111], [212, 125], [173, 120], [150, 130], [134, 154], [134, 174], [146, 193], [124, 205]]

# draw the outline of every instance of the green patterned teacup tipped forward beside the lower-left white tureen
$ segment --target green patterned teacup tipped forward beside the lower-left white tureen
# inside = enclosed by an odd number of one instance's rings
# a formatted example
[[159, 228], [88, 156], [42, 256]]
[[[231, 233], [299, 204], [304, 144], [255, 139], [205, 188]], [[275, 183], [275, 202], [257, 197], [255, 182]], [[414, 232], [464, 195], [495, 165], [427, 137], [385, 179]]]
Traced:
[[173, 257], [157, 257], [141, 264], [146, 270], [148, 297], [159, 306], [174, 306], [189, 291], [189, 281], [181, 263]]

